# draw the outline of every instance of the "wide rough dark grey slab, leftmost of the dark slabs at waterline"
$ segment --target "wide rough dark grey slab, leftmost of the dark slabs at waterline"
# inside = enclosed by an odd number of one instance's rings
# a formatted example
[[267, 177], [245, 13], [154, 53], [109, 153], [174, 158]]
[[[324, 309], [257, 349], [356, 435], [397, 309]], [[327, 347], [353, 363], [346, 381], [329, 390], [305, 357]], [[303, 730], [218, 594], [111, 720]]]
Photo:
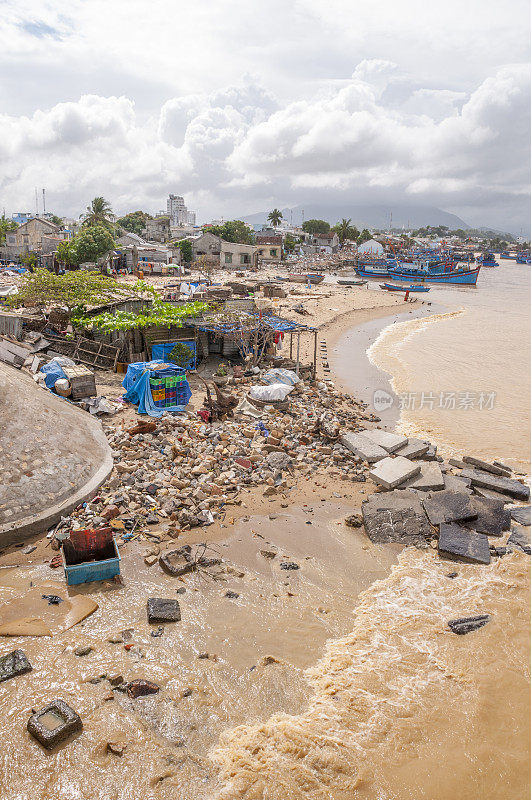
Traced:
[[426, 547], [432, 537], [418, 494], [409, 489], [372, 494], [362, 504], [362, 513], [365, 531], [372, 542]]

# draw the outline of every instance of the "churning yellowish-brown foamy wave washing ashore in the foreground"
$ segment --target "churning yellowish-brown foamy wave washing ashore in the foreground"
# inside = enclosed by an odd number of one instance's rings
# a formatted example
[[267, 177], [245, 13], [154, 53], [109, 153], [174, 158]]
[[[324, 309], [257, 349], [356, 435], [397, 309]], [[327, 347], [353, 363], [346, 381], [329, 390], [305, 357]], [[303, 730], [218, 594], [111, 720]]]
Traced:
[[[308, 670], [308, 710], [221, 737], [213, 755], [223, 782], [218, 800], [399, 797], [372, 787], [381, 764], [392, 773], [399, 755], [415, 750], [433, 710], [444, 715], [449, 692], [473, 715], [476, 683], [497, 649], [503, 668], [524, 663], [521, 642], [508, 654], [496, 641], [500, 625], [510, 626], [526, 606], [524, 563], [515, 554], [489, 567], [460, 564], [453, 581], [446, 575], [453, 565], [435, 553], [403, 551], [390, 576], [360, 595], [352, 633], [329, 642]], [[486, 612], [497, 628], [489, 624], [472, 647], [459, 647], [448, 619]]]

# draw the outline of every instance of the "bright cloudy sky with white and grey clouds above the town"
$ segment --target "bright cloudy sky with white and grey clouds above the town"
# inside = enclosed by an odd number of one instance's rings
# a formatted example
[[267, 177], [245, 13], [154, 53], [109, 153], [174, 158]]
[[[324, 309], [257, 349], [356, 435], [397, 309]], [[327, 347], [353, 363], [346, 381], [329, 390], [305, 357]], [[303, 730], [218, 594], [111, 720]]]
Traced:
[[436, 205], [531, 233], [526, 0], [0, 0], [0, 210]]

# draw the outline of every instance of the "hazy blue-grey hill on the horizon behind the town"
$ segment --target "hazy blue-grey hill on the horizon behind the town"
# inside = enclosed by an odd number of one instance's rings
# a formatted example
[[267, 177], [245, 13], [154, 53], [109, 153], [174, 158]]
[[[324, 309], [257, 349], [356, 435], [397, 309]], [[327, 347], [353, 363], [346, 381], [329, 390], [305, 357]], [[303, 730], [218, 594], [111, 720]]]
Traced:
[[[343, 219], [352, 219], [352, 224], [357, 228], [389, 228], [390, 215], [393, 215], [393, 228], [424, 228], [426, 225], [436, 227], [437, 225], [447, 225], [451, 230], [470, 228], [464, 220], [456, 214], [450, 214], [434, 206], [406, 205], [363, 205], [344, 203], [342, 205], [319, 205], [319, 203], [308, 203], [298, 205], [294, 208], [283, 208], [282, 214], [288, 222], [293, 221], [294, 225], [300, 225], [302, 212], [304, 219], [324, 219], [331, 225]], [[267, 221], [269, 211], [261, 211], [258, 214], [249, 214], [238, 219], [254, 225], [260, 225]]]

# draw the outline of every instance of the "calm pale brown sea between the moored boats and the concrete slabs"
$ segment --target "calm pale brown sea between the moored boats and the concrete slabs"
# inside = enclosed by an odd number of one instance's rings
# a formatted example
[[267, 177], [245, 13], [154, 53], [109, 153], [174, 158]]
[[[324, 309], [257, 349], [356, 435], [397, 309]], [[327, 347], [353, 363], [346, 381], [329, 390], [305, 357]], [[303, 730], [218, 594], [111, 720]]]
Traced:
[[391, 377], [398, 428], [443, 453], [529, 472], [531, 267], [501, 261], [473, 287], [432, 287], [441, 313], [385, 328], [368, 351]]

